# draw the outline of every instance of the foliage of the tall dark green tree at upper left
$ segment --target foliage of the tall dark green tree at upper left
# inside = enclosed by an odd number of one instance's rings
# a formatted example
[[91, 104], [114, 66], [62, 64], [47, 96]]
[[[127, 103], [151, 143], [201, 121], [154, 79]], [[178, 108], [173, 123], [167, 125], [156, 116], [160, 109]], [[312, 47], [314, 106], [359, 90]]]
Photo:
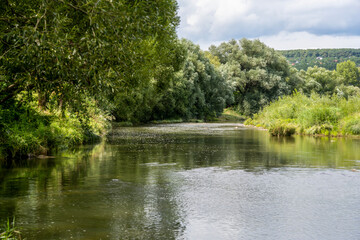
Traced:
[[0, 104], [35, 92], [40, 105], [81, 105], [141, 85], [172, 61], [176, 12], [175, 0], [1, 1]]

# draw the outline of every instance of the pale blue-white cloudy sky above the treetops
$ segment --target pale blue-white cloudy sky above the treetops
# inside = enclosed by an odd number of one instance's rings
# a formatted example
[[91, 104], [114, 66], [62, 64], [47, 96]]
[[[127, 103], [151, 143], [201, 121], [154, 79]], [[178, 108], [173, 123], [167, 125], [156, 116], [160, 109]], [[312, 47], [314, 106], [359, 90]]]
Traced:
[[178, 0], [180, 38], [206, 50], [230, 39], [275, 49], [360, 48], [360, 0]]

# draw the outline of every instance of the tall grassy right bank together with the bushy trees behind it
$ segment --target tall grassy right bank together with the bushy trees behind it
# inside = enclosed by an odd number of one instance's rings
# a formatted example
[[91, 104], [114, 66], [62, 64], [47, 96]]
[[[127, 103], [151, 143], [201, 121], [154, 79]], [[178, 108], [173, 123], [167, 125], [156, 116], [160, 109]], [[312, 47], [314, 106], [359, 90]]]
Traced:
[[301, 71], [299, 92], [271, 103], [246, 124], [267, 128], [273, 135], [359, 135], [359, 73], [351, 61], [339, 63], [336, 71]]

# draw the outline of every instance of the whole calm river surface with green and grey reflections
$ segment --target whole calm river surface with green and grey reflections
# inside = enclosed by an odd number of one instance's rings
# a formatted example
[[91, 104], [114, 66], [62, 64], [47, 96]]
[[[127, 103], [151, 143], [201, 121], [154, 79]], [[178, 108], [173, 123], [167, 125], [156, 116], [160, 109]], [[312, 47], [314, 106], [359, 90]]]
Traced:
[[[115, 130], [0, 168], [26, 239], [360, 239], [360, 140], [239, 124]], [[1, 225], [2, 226], [2, 225]]]

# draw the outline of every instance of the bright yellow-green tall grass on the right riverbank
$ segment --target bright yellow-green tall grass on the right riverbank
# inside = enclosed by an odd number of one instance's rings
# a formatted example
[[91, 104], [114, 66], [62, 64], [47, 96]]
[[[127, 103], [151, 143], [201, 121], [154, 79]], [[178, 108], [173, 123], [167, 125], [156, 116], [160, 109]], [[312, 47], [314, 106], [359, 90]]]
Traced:
[[360, 97], [285, 96], [245, 121], [272, 135], [360, 135]]

